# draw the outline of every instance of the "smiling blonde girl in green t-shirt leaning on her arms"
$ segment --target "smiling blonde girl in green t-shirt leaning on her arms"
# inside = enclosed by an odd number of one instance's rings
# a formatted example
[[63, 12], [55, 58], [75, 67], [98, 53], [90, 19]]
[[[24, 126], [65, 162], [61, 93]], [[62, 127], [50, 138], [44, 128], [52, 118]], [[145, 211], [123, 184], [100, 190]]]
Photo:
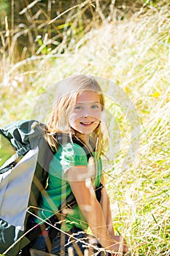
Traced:
[[[122, 238], [115, 236], [112, 227], [109, 198], [104, 188], [101, 156], [107, 144], [104, 137], [102, 112], [104, 95], [97, 81], [87, 75], [73, 75], [59, 83], [56, 103], [47, 123], [47, 142], [54, 152], [50, 162], [48, 186], [42, 192], [38, 217], [49, 219], [54, 213], [60, 220], [60, 230], [54, 229], [53, 255], [101, 255], [106, 251], [127, 252], [128, 247], [121, 243]], [[101, 185], [102, 184], [102, 185]], [[99, 189], [98, 189], [99, 188]], [[101, 190], [97, 196], [95, 190]], [[74, 195], [76, 204], [66, 208], [66, 198]], [[85, 230], [90, 227], [97, 239], [88, 241]], [[32, 249], [46, 251], [48, 233], [43, 231], [32, 243]], [[63, 254], [62, 254], [63, 253]]]

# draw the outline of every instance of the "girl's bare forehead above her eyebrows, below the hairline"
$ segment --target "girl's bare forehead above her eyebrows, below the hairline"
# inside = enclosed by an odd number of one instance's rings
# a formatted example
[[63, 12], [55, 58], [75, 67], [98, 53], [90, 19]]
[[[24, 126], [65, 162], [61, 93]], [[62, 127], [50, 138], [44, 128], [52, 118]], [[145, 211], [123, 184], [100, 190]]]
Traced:
[[77, 95], [76, 102], [100, 102], [100, 96], [97, 91], [82, 91]]

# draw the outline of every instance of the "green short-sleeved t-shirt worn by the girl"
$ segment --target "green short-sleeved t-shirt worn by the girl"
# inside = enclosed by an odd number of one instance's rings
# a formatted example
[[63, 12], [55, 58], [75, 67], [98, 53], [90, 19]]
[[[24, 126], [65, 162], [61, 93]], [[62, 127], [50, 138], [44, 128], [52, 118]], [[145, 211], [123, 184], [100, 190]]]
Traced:
[[[88, 157], [83, 148], [76, 143], [66, 143], [60, 146], [50, 162], [47, 189], [42, 191], [42, 200], [39, 206], [39, 217], [42, 219], [49, 218], [54, 212], [57, 212], [61, 203], [71, 194], [72, 189], [69, 181], [66, 180], [66, 172], [70, 167], [74, 166], [88, 167]], [[98, 187], [100, 184], [101, 174], [101, 159], [98, 159], [96, 161], [96, 176], [93, 178], [94, 187]], [[39, 222], [38, 219], [36, 219], [36, 222]], [[68, 232], [74, 226], [80, 227], [82, 230], [88, 227], [79, 206], [75, 206], [66, 215], [66, 219], [61, 225], [61, 230]]]

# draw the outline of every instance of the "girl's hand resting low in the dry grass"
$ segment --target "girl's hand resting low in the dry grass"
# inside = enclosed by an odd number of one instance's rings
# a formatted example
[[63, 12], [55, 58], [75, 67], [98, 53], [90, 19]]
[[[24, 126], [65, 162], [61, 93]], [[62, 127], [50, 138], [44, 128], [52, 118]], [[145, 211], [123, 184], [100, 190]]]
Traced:
[[123, 239], [122, 236], [111, 236], [112, 239], [115, 241], [115, 243], [112, 245], [112, 251], [114, 252], [118, 252], [118, 254], [116, 253], [111, 253], [112, 256], [118, 256], [118, 255], [122, 255], [123, 252], [128, 252], [128, 246], [125, 243], [125, 240]]

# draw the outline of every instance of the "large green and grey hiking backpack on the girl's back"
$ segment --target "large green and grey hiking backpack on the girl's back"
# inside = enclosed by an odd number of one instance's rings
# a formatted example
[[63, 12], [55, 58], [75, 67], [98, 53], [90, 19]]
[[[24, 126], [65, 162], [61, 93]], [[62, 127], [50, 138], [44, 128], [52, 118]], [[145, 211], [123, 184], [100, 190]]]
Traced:
[[[0, 129], [0, 253], [18, 255], [30, 241], [23, 234], [29, 211], [39, 205], [53, 152], [45, 124], [16, 121]], [[41, 150], [39, 150], [41, 148]]]

